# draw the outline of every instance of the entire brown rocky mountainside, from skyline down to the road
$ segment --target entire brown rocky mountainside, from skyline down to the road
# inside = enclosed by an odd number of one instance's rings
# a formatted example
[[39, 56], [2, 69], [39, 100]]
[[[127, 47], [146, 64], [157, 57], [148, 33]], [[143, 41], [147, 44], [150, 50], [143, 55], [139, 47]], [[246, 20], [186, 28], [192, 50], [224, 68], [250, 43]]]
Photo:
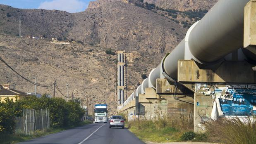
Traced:
[[[0, 5], [0, 57], [31, 80], [35, 76], [42, 84], [57, 80], [65, 94], [68, 83], [69, 94], [89, 95], [91, 106], [107, 103], [110, 112], [115, 113], [116, 55], [105, 51], [126, 51], [129, 96], [142, 82], [142, 75], [148, 75], [206, 11], [167, 9], [156, 6], [157, 2], [136, 0], [97, 2], [102, 4], [94, 2], [89, 6], [93, 8], [72, 14]], [[22, 38], [18, 37], [19, 19]], [[29, 35], [44, 39], [29, 39]], [[56, 44], [51, 38], [70, 44]], [[33, 92], [32, 84], [2, 63], [0, 67], [0, 83]], [[53, 87], [38, 87], [38, 92], [53, 94]], [[57, 92], [56, 97], [63, 96]]]

